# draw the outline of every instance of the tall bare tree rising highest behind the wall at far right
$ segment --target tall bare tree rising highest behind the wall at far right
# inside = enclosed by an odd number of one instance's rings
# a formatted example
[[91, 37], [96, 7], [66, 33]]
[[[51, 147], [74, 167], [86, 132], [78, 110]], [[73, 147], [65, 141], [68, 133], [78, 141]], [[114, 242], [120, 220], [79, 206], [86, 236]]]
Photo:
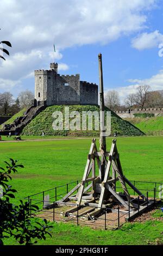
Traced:
[[150, 86], [139, 86], [137, 88], [138, 92], [135, 94], [134, 101], [137, 105], [139, 105], [141, 108], [145, 106], [145, 103], [147, 101], [147, 94]]

